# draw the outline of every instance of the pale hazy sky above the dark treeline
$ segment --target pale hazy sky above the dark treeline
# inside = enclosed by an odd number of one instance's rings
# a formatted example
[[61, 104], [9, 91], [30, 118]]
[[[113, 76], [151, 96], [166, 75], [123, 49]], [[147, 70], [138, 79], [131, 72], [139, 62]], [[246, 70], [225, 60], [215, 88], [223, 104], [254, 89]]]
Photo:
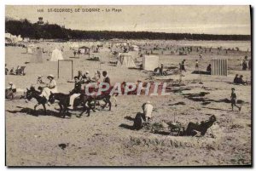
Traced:
[[[39, 12], [40, 9], [44, 12]], [[65, 9], [66, 12], [49, 12], [50, 9]], [[86, 9], [99, 11], [86, 12]], [[15, 20], [27, 19], [32, 23], [43, 17], [49, 24], [84, 31], [251, 34], [249, 6], [22, 5], [6, 6], [5, 14]]]

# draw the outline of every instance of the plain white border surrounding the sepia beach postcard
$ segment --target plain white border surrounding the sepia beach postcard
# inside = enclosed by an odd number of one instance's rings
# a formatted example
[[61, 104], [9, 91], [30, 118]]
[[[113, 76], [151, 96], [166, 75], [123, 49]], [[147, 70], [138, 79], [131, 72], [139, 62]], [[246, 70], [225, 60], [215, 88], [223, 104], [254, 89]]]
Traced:
[[[120, 1], [120, 0], [109, 0], [109, 1], [104, 1], [104, 0], [90, 0], [90, 1], [83, 1], [83, 0], [76, 0], [76, 1], [70, 1], [70, 0], [44, 0], [44, 1], [35, 1], [35, 0], [26, 0], [26, 1], [19, 1], [19, 0], [2, 0], [0, 1], [0, 40], [1, 42], [1, 47], [0, 47], [0, 64], [4, 65], [4, 19], [5, 19], [5, 5], [249, 5], [251, 4], [254, 7], [255, 10], [255, 0], [215, 0], [215, 1], [206, 1], [206, 0], [175, 0], [175, 1], [168, 1], [168, 0], [145, 0], [145, 1], [138, 1], [138, 0], [125, 0], [125, 1]], [[254, 14], [254, 12], [253, 12]], [[255, 16], [253, 17], [253, 23], [255, 22]], [[255, 34], [255, 32], [254, 32]], [[253, 50], [255, 49], [255, 43], [253, 46]], [[2, 71], [0, 72], [0, 85], [1, 85], [1, 91], [0, 91], [0, 104], [1, 104], [1, 114], [0, 114], [0, 122], [1, 122], [1, 127], [0, 127], [0, 168], [1, 170], [7, 170], [5, 165], [5, 125], [4, 125], [4, 120], [5, 120], [5, 111], [4, 111], [4, 87], [5, 87], [5, 76]], [[253, 77], [254, 79], [254, 77]], [[254, 88], [254, 87], [253, 87]], [[254, 89], [255, 90], [255, 89]], [[255, 94], [253, 94], [255, 95]], [[253, 103], [253, 106], [256, 107], [255, 101]], [[255, 110], [255, 109], [254, 109]], [[255, 119], [255, 116], [253, 117]], [[254, 122], [255, 125], [255, 122]], [[253, 130], [254, 126], [253, 126]], [[255, 132], [254, 132], [255, 133]], [[254, 135], [254, 134], [253, 134]], [[255, 145], [255, 141], [253, 141], [253, 146]], [[255, 149], [255, 146], [253, 147]], [[255, 157], [253, 157], [254, 159]], [[255, 163], [255, 159], [253, 160], [253, 163]], [[12, 168], [12, 170], [16, 170], [18, 168]], [[38, 168], [30, 168], [30, 170], [37, 170]], [[48, 170], [49, 168], [47, 168]], [[63, 168], [56, 168], [58, 170], [63, 169]], [[76, 169], [76, 168], [69, 168], [69, 169]], [[93, 168], [86, 168], [87, 170], [92, 170]], [[110, 170], [112, 168], [108, 168]], [[127, 168], [126, 168], [127, 169]], [[132, 168], [129, 168], [132, 169]], [[134, 168], [133, 168], [134, 169]], [[143, 169], [138, 169], [137, 170], [148, 170], [148, 168], [143, 168]], [[185, 170], [191, 169], [191, 168], [183, 168]], [[198, 168], [194, 168], [198, 169]], [[208, 168], [202, 168], [202, 170], [207, 170]], [[222, 168], [214, 168], [214, 169], [222, 169]], [[225, 168], [225, 170], [232, 170], [233, 168]], [[172, 168], [172, 170], [177, 170], [177, 168]]]

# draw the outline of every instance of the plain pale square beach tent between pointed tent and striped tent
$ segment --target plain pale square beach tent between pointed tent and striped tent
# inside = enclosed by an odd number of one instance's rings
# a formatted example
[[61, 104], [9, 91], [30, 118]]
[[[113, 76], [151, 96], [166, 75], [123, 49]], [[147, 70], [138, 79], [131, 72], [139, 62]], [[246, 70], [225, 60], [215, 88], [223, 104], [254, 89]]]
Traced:
[[159, 67], [159, 56], [145, 55], [143, 56], [143, 70], [154, 71]]

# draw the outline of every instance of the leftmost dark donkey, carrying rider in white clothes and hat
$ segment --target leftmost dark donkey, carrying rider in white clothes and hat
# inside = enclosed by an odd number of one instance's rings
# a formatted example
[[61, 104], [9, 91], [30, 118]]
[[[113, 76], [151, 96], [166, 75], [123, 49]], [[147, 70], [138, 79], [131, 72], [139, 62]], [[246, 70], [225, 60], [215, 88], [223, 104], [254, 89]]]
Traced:
[[46, 115], [45, 104], [47, 103], [47, 100], [44, 96], [40, 96], [40, 94], [41, 93], [37, 91], [34, 87], [31, 87], [30, 89], [26, 88], [26, 100], [32, 100], [32, 98], [35, 98], [38, 101], [38, 104], [34, 106], [34, 111], [36, 111], [38, 105], [43, 105], [44, 114]]

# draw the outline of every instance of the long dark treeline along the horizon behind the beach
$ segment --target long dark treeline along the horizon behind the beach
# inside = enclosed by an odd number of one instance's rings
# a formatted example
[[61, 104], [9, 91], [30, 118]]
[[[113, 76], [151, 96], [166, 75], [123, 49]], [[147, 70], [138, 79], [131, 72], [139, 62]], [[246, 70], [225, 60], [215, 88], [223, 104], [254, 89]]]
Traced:
[[33, 39], [164, 39], [164, 40], [251, 40], [250, 35], [212, 35], [189, 33], [165, 33], [150, 31], [79, 31], [58, 25], [32, 24], [28, 20], [6, 20], [5, 31]]

